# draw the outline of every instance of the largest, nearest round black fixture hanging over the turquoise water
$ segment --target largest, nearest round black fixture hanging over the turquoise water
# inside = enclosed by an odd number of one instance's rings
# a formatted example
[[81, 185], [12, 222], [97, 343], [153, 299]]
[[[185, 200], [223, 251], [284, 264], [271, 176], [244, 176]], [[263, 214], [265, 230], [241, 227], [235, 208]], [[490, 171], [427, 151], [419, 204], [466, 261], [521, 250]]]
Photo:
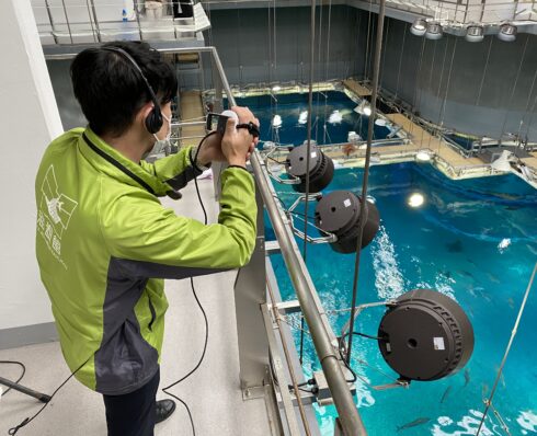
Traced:
[[399, 297], [380, 320], [378, 336], [386, 363], [407, 380], [455, 374], [473, 352], [473, 329], [462, 308], [431, 289]]

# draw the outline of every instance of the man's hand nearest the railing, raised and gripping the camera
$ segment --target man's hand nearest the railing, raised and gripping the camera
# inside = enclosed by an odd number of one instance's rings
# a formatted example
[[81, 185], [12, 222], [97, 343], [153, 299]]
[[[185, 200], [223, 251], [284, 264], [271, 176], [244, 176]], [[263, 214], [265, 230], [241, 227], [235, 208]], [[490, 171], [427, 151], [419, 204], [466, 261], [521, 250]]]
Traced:
[[[240, 124], [252, 122], [259, 127], [259, 119], [253, 116], [248, 107], [233, 106], [231, 111], [237, 113]], [[247, 160], [258, 144], [258, 138], [253, 138], [250, 135], [248, 129], [237, 129], [235, 119], [229, 118], [226, 124], [226, 133], [221, 140], [221, 151], [230, 165], [245, 167]]]

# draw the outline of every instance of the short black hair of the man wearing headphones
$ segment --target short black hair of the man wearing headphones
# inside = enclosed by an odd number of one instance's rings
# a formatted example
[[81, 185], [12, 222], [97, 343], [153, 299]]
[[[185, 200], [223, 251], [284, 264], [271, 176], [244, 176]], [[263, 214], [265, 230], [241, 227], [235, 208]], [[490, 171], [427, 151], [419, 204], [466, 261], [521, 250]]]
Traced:
[[[159, 51], [140, 42], [113, 42], [103, 47], [106, 46], [122, 48], [136, 60], [160, 104], [175, 96], [178, 78]], [[73, 59], [70, 73], [75, 96], [96, 135], [123, 135], [138, 111], [151, 101], [139, 71], [119, 53], [87, 48]]]

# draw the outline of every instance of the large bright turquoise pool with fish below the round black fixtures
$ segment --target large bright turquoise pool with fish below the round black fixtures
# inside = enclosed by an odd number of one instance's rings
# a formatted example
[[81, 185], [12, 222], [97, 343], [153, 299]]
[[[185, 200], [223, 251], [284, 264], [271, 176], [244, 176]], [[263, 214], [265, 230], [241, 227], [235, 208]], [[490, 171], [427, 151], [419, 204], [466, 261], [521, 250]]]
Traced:
[[[338, 170], [327, 192], [357, 194], [361, 182], [362, 170]], [[275, 186], [290, 205], [290, 188]], [[408, 206], [413, 193], [424, 196], [422, 207]], [[374, 391], [358, 380], [355, 399], [366, 428], [374, 436], [473, 435], [537, 261], [537, 191], [514, 175], [450, 181], [429, 163], [403, 163], [373, 167], [369, 194], [381, 222], [376, 239], [363, 251], [358, 302], [393, 298], [414, 288], [436, 289], [465, 309], [476, 346], [465, 369], [439, 381]], [[298, 243], [301, 248], [302, 241]], [[295, 299], [282, 257], [271, 259], [283, 298]], [[307, 260], [324, 308], [349, 308], [354, 255], [310, 244]], [[537, 285], [534, 288], [494, 398], [512, 435], [537, 434]], [[382, 313], [382, 309], [363, 312], [356, 330], [376, 334]], [[330, 320], [339, 332], [347, 314], [331, 314]], [[298, 346], [298, 332], [294, 334]], [[354, 341], [352, 366], [373, 385], [396, 377], [375, 341]], [[306, 336], [304, 370], [309, 375], [318, 368]], [[322, 434], [332, 435], [334, 408], [317, 411]], [[398, 427], [416, 418], [423, 423], [398, 433]], [[482, 435], [505, 434], [493, 415], [485, 425]]]

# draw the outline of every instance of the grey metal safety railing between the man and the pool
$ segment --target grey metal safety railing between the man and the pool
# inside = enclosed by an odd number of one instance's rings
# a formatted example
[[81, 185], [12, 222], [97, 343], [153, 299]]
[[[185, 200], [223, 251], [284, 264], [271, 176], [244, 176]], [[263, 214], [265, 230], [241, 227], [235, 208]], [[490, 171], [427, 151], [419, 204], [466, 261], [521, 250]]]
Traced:
[[[77, 53], [83, 49], [84, 46], [64, 46], [61, 49], [58, 49], [56, 46], [44, 47], [45, 57], [49, 60], [53, 59], [71, 59]], [[228, 102], [230, 105], [235, 105], [235, 97], [227, 81], [224, 67], [221, 65], [220, 58], [215, 47], [190, 47], [190, 48], [174, 48], [174, 47], [160, 47], [159, 51], [163, 54], [190, 54], [190, 53], [208, 53], [212, 56], [213, 65], [216, 68], [217, 74], [213, 71], [213, 80], [214, 87], [216, 90], [216, 94], [226, 93], [228, 97]], [[221, 110], [221, 101], [219, 104], [215, 105], [215, 111]], [[178, 123], [179, 125], [181, 123]], [[198, 124], [198, 122], [194, 122], [193, 124]], [[317, 294], [316, 287], [311, 280], [309, 275], [307, 265], [304, 262], [304, 259], [299, 252], [297, 246], [293, 229], [290, 222], [282, 209], [281, 205], [276, 202], [277, 194], [272, 185], [271, 177], [266, 171], [266, 163], [264, 162], [261, 153], [255, 150], [250, 159], [251, 170], [253, 171], [254, 179], [256, 182], [258, 190], [258, 208], [259, 208], [259, 219], [258, 219], [258, 228], [263, 232], [263, 210], [266, 209], [268, 217], [272, 222], [272, 227], [274, 229], [274, 233], [277, 239], [277, 248], [272, 248], [272, 252], [274, 250], [278, 251], [285, 261], [287, 271], [289, 273], [289, 277], [292, 284], [295, 288], [297, 299], [300, 305], [300, 309], [302, 315], [306, 320], [306, 323], [309, 328], [309, 332], [311, 335], [311, 340], [313, 342], [317, 356], [321, 364], [328, 387], [330, 389], [333, 404], [338, 411], [338, 426], [336, 432], [343, 432], [344, 435], [366, 435], [366, 431], [362, 418], [358, 414], [358, 410], [353, 400], [353, 395], [351, 392], [351, 387], [345, 378], [344, 364], [341, 360], [341, 355], [339, 353], [339, 345], [336, 341], [336, 336], [332, 331], [330, 322], [324, 313], [324, 309], [322, 308], [322, 303]], [[264, 207], [263, 207], [264, 206]], [[268, 328], [265, 325], [267, 320], [270, 319], [270, 313], [267, 311], [266, 305], [266, 294], [267, 294], [267, 283], [265, 282], [265, 259], [267, 255], [268, 249], [265, 249], [264, 234], [258, 234], [258, 243], [252, 255], [252, 261], [249, 265], [243, 267], [240, 271], [236, 283], [236, 307], [237, 307], [237, 318], [238, 318], [238, 330], [242, 324], [244, 319], [249, 319], [249, 322], [253, 322], [255, 325], [251, 326], [251, 331], [241, 332], [238, 331], [239, 334], [239, 360], [241, 365], [241, 385], [244, 388], [243, 395], [248, 398], [252, 395], [252, 392], [259, 388], [256, 385], [262, 385], [266, 380], [266, 365], [264, 357], [260, 354], [265, 353], [266, 349], [271, 349], [271, 356], [277, 355], [277, 349], [274, 349], [274, 341], [271, 337], [273, 334], [272, 326]], [[259, 288], [262, 288], [262, 292], [260, 292]], [[239, 300], [241, 298], [241, 300]], [[274, 298], [271, 292], [271, 298]], [[253, 303], [253, 306], [252, 306]], [[251, 305], [251, 306], [248, 306]], [[271, 307], [274, 307], [275, 301], [272, 301]], [[249, 308], [247, 310], [247, 308]], [[260, 311], [261, 308], [261, 311]], [[258, 317], [256, 320], [253, 320], [253, 317]], [[267, 337], [262, 339], [253, 337], [252, 331], [259, 332], [260, 323], [263, 324], [263, 331], [267, 335]], [[277, 317], [276, 317], [277, 321]], [[258, 330], [256, 330], [258, 329]], [[244, 337], [242, 337], [244, 336]], [[293, 343], [293, 341], [290, 341]], [[241, 345], [247, 344], [248, 346], [253, 347], [256, 352], [252, 355], [252, 349], [243, 349]], [[264, 348], [264, 344], [267, 346]], [[272, 348], [271, 348], [272, 344]], [[294, 345], [293, 345], [294, 346]], [[258, 353], [258, 355], [255, 355]], [[253, 356], [253, 357], [252, 357]], [[286, 353], [286, 364], [287, 369], [292, 375], [293, 386], [297, 387], [296, 377], [293, 375], [293, 362], [288, 362], [289, 357]], [[295, 363], [296, 364], [296, 363]], [[282, 371], [278, 371], [282, 377]], [[261, 379], [260, 379], [261, 377]], [[287, 383], [282, 382], [279, 379], [279, 386], [286, 387]], [[300, 435], [302, 434], [294, 420], [295, 410], [289, 410], [292, 408], [293, 402], [289, 402], [288, 392], [285, 391], [285, 388], [279, 389], [281, 397], [283, 399], [282, 406], [285, 411], [285, 415], [287, 416], [287, 425], [292, 435]], [[285, 391], [285, 392], [284, 392]], [[299, 392], [296, 389], [296, 392]], [[294, 399], [300, 409], [302, 409], [300, 395], [297, 393]], [[301, 410], [302, 424], [305, 427], [305, 432], [307, 435], [311, 434], [308, 429], [308, 423], [305, 414]], [[306, 421], [305, 421], [306, 420]], [[340, 433], [339, 433], [340, 434]]]

